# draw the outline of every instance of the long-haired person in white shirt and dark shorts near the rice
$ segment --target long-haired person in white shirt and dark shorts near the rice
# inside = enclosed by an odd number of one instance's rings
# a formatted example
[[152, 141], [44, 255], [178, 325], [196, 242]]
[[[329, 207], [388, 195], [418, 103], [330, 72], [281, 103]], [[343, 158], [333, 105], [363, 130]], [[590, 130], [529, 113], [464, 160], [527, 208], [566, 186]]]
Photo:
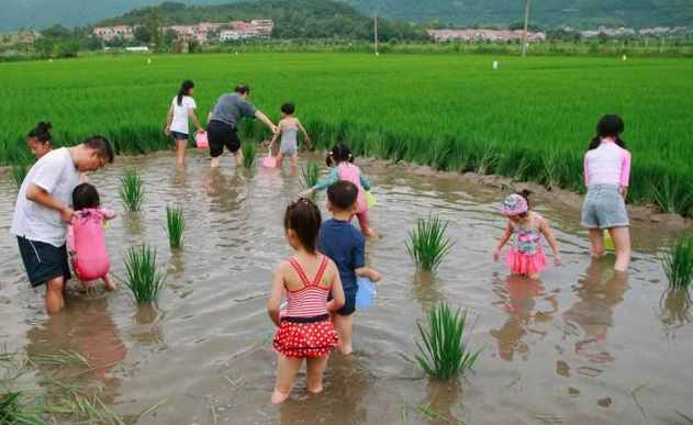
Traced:
[[188, 128], [188, 119], [192, 119], [192, 123], [198, 128], [198, 133], [203, 133], [204, 128], [200, 125], [194, 114], [198, 108], [192, 92], [194, 83], [191, 80], [185, 80], [178, 90], [178, 94], [174, 98], [168, 116], [166, 119], [166, 135], [170, 135], [176, 142], [176, 165], [186, 164], [186, 148], [188, 147], [188, 138], [190, 131]]

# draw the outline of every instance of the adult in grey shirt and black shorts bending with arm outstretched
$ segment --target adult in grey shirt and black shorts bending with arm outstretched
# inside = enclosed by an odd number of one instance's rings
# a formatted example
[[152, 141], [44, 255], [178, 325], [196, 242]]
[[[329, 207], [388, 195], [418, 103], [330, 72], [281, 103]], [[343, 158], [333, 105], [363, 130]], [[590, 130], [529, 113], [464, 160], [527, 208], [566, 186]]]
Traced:
[[277, 133], [277, 126], [258, 111], [248, 101], [250, 88], [246, 85], [236, 87], [233, 93], [222, 94], [208, 118], [208, 139], [210, 144], [210, 155], [212, 156], [212, 168], [219, 167], [219, 157], [224, 153], [224, 146], [236, 158], [236, 165], [243, 161], [241, 154], [241, 139], [238, 138], [238, 123], [243, 118], [257, 118]]

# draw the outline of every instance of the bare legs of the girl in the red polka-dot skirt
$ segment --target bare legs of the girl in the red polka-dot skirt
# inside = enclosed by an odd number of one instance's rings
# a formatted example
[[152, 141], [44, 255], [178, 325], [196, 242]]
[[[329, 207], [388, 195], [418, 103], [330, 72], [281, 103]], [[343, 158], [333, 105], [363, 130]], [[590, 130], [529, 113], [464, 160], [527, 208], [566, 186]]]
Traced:
[[[327, 367], [328, 356], [306, 358], [308, 391], [317, 394], [323, 391], [323, 373]], [[293, 380], [301, 369], [302, 358], [284, 357], [277, 355], [277, 381], [271, 401], [275, 404], [283, 403], [291, 392]]]

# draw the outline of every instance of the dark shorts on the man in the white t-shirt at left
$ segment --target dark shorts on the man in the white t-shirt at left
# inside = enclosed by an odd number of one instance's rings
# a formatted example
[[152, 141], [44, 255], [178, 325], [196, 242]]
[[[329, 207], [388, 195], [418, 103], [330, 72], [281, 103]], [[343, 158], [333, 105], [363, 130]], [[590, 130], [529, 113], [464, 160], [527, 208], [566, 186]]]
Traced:
[[48, 280], [59, 278], [69, 280], [70, 267], [67, 261], [67, 248], [63, 245], [59, 248], [51, 244], [38, 241], [30, 241], [24, 237], [16, 237], [20, 246], [20, 254], [26, 276], [33, 288], [46, 283]]

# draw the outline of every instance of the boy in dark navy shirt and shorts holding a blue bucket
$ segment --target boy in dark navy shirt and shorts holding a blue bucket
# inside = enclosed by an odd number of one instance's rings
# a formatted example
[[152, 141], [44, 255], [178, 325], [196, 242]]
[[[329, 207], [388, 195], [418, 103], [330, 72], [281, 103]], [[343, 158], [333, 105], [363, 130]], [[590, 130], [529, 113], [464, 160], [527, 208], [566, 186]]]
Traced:
[[327, 210], [333, 219], [320, 228], [317, 248], [332, 258], [339, 269], [345, 304], [335, 314], [333, 321], [339, 334], [339, 351], [351, 354], [353, 314], [356, 310], [356, 277], [366, 277], [377, 282], [380, 273], [366, 267], [366, 241], [350, 220], [356, 212], [358, 188], [350, 181], [338, 181], [327, 189]]

